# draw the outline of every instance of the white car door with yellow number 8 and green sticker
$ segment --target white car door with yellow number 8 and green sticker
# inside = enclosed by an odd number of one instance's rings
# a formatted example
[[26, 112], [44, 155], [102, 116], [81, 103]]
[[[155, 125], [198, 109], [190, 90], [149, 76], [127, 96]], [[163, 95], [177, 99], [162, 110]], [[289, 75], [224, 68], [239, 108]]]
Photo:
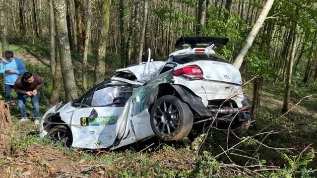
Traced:
[[116, 140], [116, 125], [124, 103], [116, 102], [122, 93], [118, 86], [107, 86], [88, 94], [71, 118], [72, 146], [107, 148]]

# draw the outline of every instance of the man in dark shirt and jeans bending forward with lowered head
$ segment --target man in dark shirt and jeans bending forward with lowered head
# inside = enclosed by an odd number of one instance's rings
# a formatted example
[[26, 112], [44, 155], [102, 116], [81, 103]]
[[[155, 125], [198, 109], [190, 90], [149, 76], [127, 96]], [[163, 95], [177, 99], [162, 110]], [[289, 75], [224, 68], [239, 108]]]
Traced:
[[27, 115], [25, 111], [25, 103], [27, 97], [31, 97], [31, 102], [33, 106], [34, 113], [34, 123], [39, 124], [39, 115], [40, 115], [40, 89], [44, 85], [43, 79], [36, 73], [25, 72], [23, 75], [20, 75], [15, 83], [14, 90], [17, 92], [18, 98], [18, 107], [21, 112], [20, 121], [26, 121]]

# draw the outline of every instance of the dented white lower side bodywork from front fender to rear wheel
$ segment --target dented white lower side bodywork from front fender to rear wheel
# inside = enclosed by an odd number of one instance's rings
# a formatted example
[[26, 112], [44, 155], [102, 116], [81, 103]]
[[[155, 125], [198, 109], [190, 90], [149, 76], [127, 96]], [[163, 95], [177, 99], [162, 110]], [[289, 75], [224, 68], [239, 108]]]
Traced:
[[[108, 148], [114, 144], [116, 138], [122, 139], [118, 145], [111, 148], [115, 149], [154, 135], [152, 128], [149, 127], [149, 112], [144, 110], [136, 116], [131, 116], [132, 106], [130, 100], [125, 107], [74, 108], [67, 103], [58, 112], [60, 112], [62, 120], [69, 124], [73, 135], [71, 146], [88, 149]], [[56, 106], [52, 107], [43, 118], [50, 114], [56, 114], [55, 109]], [[80, 120], [86, 118], [88, 123], [89, 115], [93, 109], [98, 113], [98, 118], [94, 119], [97, 120], [97, 123], [109, 117], [116, 117], [118, 120], [110, 125], [81, 126]], [[41, 138], [47, 134], [43, 129], [43, 122], [44, 119], [42, 119], [42, 124], [40, 125]]]

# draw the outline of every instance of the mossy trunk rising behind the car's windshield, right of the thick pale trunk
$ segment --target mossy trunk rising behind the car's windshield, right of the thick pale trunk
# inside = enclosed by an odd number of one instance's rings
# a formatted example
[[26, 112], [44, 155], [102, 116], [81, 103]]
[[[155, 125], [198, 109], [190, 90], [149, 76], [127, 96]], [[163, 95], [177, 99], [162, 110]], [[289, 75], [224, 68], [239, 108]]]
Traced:
[[100, 30], [98, 32], [98, 56], [95, 65], [95, 84], [105, 79], [106, 48], [109, 30], [111, 0], [102, 0], [100, 11]]

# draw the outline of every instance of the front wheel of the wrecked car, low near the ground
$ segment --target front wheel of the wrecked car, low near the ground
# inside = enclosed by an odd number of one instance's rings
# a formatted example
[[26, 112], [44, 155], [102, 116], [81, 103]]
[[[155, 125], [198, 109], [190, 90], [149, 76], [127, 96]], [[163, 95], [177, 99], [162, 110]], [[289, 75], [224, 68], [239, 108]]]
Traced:
[[70, 147], [72, 144], [71, 131], [64, 125], [54, 126], [49, 130], [47, 135], [54, 141], [62, 141], [66, 147]]

